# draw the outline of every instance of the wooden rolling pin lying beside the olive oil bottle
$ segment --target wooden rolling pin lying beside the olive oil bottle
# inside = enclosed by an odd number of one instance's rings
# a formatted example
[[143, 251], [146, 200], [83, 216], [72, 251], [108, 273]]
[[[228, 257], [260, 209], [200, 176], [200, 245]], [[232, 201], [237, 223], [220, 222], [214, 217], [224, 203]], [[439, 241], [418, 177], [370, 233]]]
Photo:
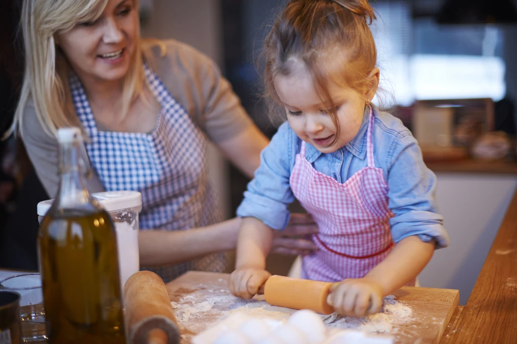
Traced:
[[124, 286], [130, 344], [179, 344], [177, 320], [163, 280], [139, 271]]

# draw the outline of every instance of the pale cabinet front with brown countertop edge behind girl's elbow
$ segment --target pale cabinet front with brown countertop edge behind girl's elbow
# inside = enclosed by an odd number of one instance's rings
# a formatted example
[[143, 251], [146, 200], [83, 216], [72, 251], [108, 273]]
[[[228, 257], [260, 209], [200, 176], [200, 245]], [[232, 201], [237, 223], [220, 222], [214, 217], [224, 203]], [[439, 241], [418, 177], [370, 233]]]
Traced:
[[420, 283], [459, 289], [460, 305], [465, 305], [517, 191], [517, 163], [465, 160], [428, 165], [437, 177], [437, 208], [450, 245], [436, 251], [419, 275]]

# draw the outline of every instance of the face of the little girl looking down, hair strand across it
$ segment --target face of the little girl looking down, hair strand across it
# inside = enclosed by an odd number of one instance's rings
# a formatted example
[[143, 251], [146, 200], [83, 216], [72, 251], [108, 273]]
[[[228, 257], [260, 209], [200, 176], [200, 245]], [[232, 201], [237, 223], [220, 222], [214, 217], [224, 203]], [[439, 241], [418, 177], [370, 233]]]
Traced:
[[[378, 69], [374, 72], [378, 83]], [[329, 83], [328, 91], [338, 114], [338, 135], [337, 128], [328, 114], [330, 105], [322, 103], [314, 88], [311, 73], [303, 62], [293, 61], [291, 73], [278, 74], [274, 84], [291, 129], [300, 139], [322, 153], [340, 149], [357, 135], [367, 99], [372, 100], [375, 95], [375, 91], [373, 94], [371, 90], [360, 94], [351, 87]]]

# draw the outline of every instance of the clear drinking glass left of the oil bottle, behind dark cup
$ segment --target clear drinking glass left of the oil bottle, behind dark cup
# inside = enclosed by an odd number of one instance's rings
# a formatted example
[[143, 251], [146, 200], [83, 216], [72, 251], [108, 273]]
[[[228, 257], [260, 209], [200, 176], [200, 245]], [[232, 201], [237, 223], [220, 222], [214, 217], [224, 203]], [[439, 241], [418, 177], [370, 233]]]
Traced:
[[21, 295], [22, 340], [24, 342], [47, 340], [40, 274], [19, 274], [7, 277], [0, 281], [0, 289], [15, 291]]

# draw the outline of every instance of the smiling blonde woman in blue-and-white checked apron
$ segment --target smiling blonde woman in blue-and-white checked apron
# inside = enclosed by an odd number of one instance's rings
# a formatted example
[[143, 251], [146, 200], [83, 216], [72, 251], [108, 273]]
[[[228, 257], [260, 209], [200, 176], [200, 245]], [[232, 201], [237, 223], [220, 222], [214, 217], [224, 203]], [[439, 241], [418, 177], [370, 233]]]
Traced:
[[[176, 41], [142, 40], [138, 0], [25, 0], [21, 22], [26, 71], [10, 133], [19, 128], [49, 195], [58, 187], [56, 130], [81, 126], [96, 171], [90, 190], [142, 193], [142, 265], [161, 265], [166, 281], [223, 271], [222, 253], [190, 261], [233, 249], [240, 222], [218, 223], [208, 139], [250, 177], [268, 141], [214, 62]], [[294, 220], [287, 234], [314, 229], [306, 216]], [[313, 248], [285, 238], [276, 246]]]

